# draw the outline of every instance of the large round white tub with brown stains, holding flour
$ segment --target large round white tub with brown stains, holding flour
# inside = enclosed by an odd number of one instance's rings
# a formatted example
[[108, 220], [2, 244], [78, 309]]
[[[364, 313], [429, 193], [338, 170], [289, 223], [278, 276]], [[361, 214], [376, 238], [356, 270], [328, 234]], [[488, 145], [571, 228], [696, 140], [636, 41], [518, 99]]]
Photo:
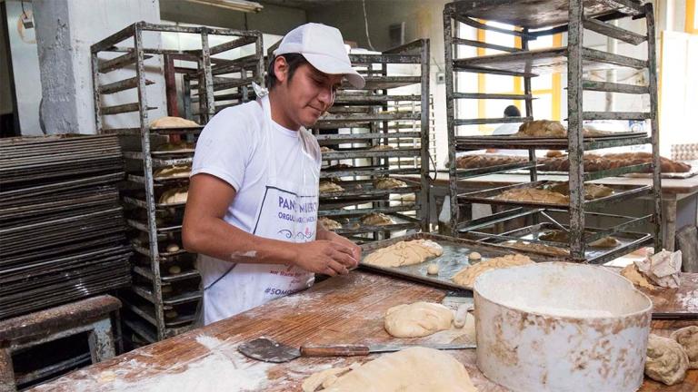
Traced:
[[634, 391], [652, 301], [601, 267], [546, 262], [474, 285], [477, 366], [514, 391]]

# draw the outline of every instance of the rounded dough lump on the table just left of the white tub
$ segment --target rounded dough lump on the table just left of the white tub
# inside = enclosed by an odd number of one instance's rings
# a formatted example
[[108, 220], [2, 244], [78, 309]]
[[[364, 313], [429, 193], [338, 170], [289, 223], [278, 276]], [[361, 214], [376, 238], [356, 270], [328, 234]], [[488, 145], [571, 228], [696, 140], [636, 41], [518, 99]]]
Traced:
[[433, 302], [398, 305], [385, 312], [385, 330], [395, 338], [421, 338], [451, 328], [454, 312]]

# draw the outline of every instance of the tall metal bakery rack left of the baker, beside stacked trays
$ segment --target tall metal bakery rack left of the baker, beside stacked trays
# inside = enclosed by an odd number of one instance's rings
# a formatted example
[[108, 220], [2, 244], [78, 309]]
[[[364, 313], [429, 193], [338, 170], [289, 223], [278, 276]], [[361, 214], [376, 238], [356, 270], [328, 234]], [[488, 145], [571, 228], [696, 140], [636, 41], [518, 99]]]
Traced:
[[[145, 37], [154, 34], [194, 34], [200, 47], [194, 50], [146, 47]], [[232, 58], [245, 45], [253, 45], [254, 55]], [[127, 176], [121, 193], [135, 257], [134, 285], [123, 293], [122, 299], [125, 327], [132, 332], [131, 340], [138, 346], [175, 336], [194, 326], [202, 293], [200, 276], [194, 268], [196, 255], [185, 251], [181, 242], [188, 187], [186, 167], [191, 167], [194, 142], [205, 122], [222, 106], [244, 102], [252, 90], [251, 83], [262, 82], [262, 34], [138, 22], [93, 44], [91, 53], [97, 132], [120, 135], [125, 146]], [[178, 113], [175, 78], [184, 74], [186, 82], [194, 82], [191, 83], [194, 88], [191, 84], [184, 85], [184, 108], [186, 111], [195, 106], [199, 125], [151, 126], [149, 111], [155, 108], [148, 105], [152, 98], [147, 96], [147, 90], [155, 82], [146, 79], [146, 70], [159, 70], [155, 63], [158, 57], [164, 64], [167, 113]], [[119, 73], [113, 73], [117, 70]], [[117, 74], [118, 78], [127, 76], [116, 82], [105, 81], [109, 73]], [[124, 93], [133, 94], [132, 102], [113, 104], [125, 99]], [[191, 102], [192, 95], [195, 105]], [[131, 113], [133, 118], [128, 120], [133, 120], [135, 126], [106, 125], [109, 116], [125, 113]], [[123, 121], [124, 117], [121, 118]], [[169, 147], [158, 149], [155, 146], [158, 142]], [[176, 167], [184, 170], [174, 176], [155, 175], [160, 169]]]

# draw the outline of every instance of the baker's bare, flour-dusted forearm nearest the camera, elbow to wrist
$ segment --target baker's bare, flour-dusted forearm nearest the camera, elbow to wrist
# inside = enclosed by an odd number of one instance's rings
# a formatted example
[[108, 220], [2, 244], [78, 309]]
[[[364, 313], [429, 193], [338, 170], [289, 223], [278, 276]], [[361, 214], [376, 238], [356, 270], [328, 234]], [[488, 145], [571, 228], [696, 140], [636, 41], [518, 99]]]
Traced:
[[218, 218], [185, 222], [182, 237], [184, 249], [220, 260], [294, 264], [296, 259], [293, 243], [255, 236]]

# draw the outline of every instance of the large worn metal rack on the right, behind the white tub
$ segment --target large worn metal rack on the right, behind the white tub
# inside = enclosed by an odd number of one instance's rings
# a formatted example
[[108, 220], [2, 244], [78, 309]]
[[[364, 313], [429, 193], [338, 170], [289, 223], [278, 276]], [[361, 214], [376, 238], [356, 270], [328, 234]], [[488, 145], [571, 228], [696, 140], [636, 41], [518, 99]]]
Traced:
[[[644, 18], [646, 34], [636, 34], [625, 30], [609, 21], [631, 17]], [[494, 21], [513, 25], [512, 30], [483, 21]], [[520, 47], [506, 47], [487, 42], [465, 39], [457, 36], [457, 24], [472, 26], [500, 34], [513, 34], [521, 39]], [[583, 32], [590, 30], [606, 37], [620, 40], [628, 44], [638, 45], [647, 43], [647, 60], [610, 54], [600, 50], [583, 47]], [[537, 37], [566, 32], [568, 43], [566, 47], [543, 50], [529, 50], [528, 44]], [[569, 258], [576, 261], [601, 263], [627, 254], [635, 249], [654, 243], [656, 250], [662, 249], [660, 234], [661, 220], [661, 183], [659, 164], [659, 128], [657, 123], [657, 75], [656, 75], [656, 41], [654, 30], [654, 15], [652, 4], [641, 4], [634, 0], [489, 0], [489, 1], [457, 1], [444, 7], [444, 42], [446, 67], [446, 113], [449, 148], [449, 194], [451, 207], [451, 230], [454, 235], [471, 236], [487, 241], [526, 240], [543, 245], [569, 247]], [[454, 56], [455, 48], [459, 45], [494, 49], [501, 54], [487, 54], [468, 58]], [[589, 80], [585, 72], [594, 69], [627, 67], [632, 69], [647, 69], [649, 83], [647, 85], [631, 85], [623, 83], [606, 83]], [[461, 136], [458, 127], [472, 124], [525, 122], [533, 120], [533, 95], [531, 79], [541, 73], [567, 71], [567, 113], [568, 132], [566, 138], [513, 138], [512, 136]], [[458, 73], [487, 73], [523, 78], [523, 94], [493, 94], [470, 93], [457, 91], [454, 88], [454, 75]], [[628, 112], [591, 112], [583, 110], [583, 91], [649, 94], [650, 110], [646, 113]], [[525, 103], [525, 113], [522, 118], [456, 118], [455, 103], [458, 100], [522, 100]], [[584, 136], [583, 121], [585, 120], [649, 120], [651, 134], [646, 132], [618, 132], [598, 137]], [[610, 147], [650, 144], [653, 160], [650, 163], [634, 164], [605, 171], [585, 172], [583, 168], [583, 152]], [[520, 149], [529, 151], [527, 162], [499, 164], [492, 167], [476, 169], [459, 169], [456, 164], [456, 152], [476, 151], [488, 148]], [[502, 191], [514, 188], [533, 188], [541, 186], [545, 181], [538, 181], [535, 150], [553, 149], [569, 152], [569, 204], [551, 204], [544, 202], [499, 201], [492, 197]], [[623, 173], [646, 171], [653, 173], [653, 184], [641, 187], [615, 189], [613, 194], [597, 200], [584, 200], [584, 181], [597, 180], [603, 177], [617, 176]], [[513, 170], [528, 170], [530, 182], [495, 190], [458, 193], [459, 180], [485, 174]], [[653, 197], [653, 215], [640, 218], [624, 217], [612, 214], [589, 212], [590, 208], [598, 208], [626, 201], [643, 195]], [[495, 213], [490, 217], [479, 220], [463, 219], [460, 211], [462, 204], [486, 203], [504, 205], [510, 210]], [[529, 217], [533, 226], [520, 230], [501, 232], [503, 222], [512, 222], [523, 216]], [[612, 223], [603, 228], [585, 226], [585, 220], [603, 218]], [[565, 221], [566, 220], [566, 221]], [[653, 235], [632, 232], [633, 228], [651, 222]], [[499, 234], [482, 233], [477, 230], [489, 228], [499, 231]], [[494, 229], [493, 229], [494, 228]], [[566, 233], [565, 243], [561, 241], [538, 240], [537, 230], [553, 228]], [[620, 246], [610, 251], [596, 251], [588, 247], [594, 240], [608, 236], [618, 236]], [[653, 240], [654, 239], [654, 240]]]

